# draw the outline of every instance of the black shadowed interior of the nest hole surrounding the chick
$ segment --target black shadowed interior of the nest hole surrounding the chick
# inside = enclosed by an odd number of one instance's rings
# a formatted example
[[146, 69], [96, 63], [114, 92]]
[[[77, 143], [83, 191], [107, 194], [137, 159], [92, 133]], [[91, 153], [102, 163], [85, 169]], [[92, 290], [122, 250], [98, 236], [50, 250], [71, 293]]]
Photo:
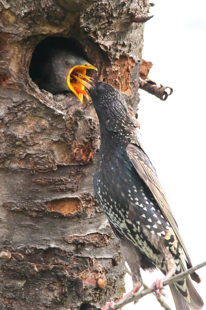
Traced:
[[[44, 76], [43, 68], [53, 55], [54, 50], [74, 52], [82, 56], [86, 61], [88, 57], [81, 43], [74, 38], [48, 37], [42, 40], [35, 48], [29, 67], [29, 75], [33, 82], [42, 89], [42, 79]], [[52, 91], [50, 91], [53, 95]]]

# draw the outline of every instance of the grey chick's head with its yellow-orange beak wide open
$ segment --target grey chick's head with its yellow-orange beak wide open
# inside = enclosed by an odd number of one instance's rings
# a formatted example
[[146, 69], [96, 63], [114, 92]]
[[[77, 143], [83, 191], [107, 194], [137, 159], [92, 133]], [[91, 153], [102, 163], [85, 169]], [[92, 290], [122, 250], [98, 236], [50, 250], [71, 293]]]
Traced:
[[81, 103], [83, 101], [83, 95], [89, 99], [84, 90], [85, 86], [74, 78], [74, 75], [80, 78], [86, 78], [90, 82], [91, 79], [86, 76], [86, 70], [94, 69], [97, 71], [97, 68], [89, 64], [83, 57], [67, 51], [56, 51], [51, 63], [56, 83], [58, 84], [57, 87], [59, 86], [62, 91], [70, 89]]

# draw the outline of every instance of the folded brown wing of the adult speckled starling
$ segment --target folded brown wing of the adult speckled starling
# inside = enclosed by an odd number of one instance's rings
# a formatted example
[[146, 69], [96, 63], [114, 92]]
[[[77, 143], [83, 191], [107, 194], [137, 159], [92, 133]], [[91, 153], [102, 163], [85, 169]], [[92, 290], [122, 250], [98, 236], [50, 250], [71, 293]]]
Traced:
[[135, 167], [138, 175], [141, 177], [141, 179], [145, 182], [145, 184], [148, 186], [148, 188], [152, 192], [155, 200], [157, 201], [160, 207], [160, 210], [162, 211], [166, 220], [170, 223], [171, 227], [173, 228], [176, 234], [176, 237], [178, 238], [179, 243], [182, 246], [183, 251], [187, 257], [188, 263], [191, 264], [192, 266], [192, 263], [187, 253], [187, 250], [185, 248], [184, 242], [182, 240], [182, 237], [180, 236], [177, 223], [174, 219], [174, 215], [169, 206], [166, 195], [163, 191], [162, 185], [158, 178], [157, 172], [154, 169], [152, 163], [150, 162], [147, 155], [135, 145], [128, 144], [126, 148], [126, 152], [133, 166]]

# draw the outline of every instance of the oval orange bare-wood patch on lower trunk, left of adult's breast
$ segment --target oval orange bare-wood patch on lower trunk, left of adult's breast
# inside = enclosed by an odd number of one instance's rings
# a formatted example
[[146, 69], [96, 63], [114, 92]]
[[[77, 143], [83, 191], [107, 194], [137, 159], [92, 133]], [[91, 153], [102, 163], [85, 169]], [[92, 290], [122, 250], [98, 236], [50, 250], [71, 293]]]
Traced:
[[48, 203], [49, 211], [56, 211], [70, 216], [82, 207], [82, 202], [78, 198], [55, 199]]

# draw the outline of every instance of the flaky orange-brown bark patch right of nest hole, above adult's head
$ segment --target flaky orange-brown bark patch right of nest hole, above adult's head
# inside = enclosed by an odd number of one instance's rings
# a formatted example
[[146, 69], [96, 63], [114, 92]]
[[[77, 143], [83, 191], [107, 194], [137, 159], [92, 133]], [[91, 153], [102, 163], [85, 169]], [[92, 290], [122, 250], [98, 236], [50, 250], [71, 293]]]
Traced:
[[115, 86], [119, 91], [126, 95], [131, 95], [131, 73], [134, 65], [132, 57], [120, 55], [119, 59], [111, 67], [111, 71], [107, 72], [105, 82]]

